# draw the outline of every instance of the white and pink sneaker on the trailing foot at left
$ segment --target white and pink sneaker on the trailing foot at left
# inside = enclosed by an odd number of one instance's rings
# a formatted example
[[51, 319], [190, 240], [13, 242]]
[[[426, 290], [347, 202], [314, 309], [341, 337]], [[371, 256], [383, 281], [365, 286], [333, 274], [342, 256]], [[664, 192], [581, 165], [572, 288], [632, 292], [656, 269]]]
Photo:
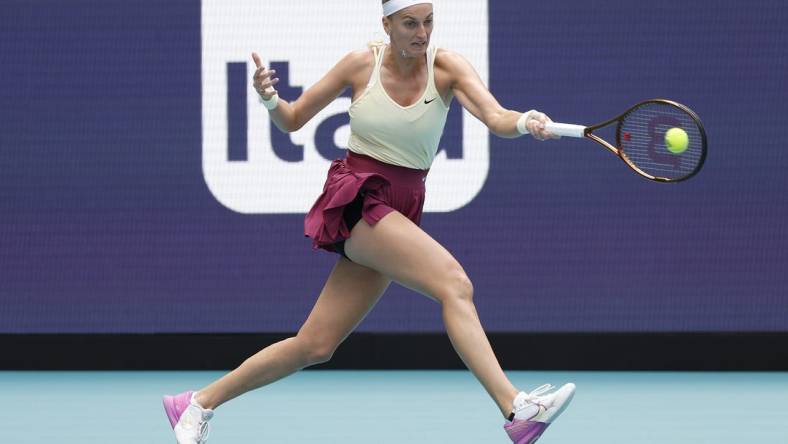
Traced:
[[184, 392], [175, 396], [164, 396], [164, 411], [175, 431], [178, 444], [205, 444], [211, 430], [208, 421], [213, 418], [213, 410], [204, 409], [194, 400], [194, 392]]

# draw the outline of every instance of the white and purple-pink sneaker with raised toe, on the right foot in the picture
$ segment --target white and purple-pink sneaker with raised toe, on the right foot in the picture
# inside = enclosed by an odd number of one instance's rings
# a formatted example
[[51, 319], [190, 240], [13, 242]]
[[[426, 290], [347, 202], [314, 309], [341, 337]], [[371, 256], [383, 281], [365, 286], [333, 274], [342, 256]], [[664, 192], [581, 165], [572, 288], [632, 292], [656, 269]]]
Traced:
[[520, 392], [514, 398], [514, 419], [506, 421], [503, 426], [514, 444], [536, 442], [569, 406], [575, 395], [575, 385], [570, 382], [552, 393], [547, 393], [554, 388], [545, 384], [530, 393]]

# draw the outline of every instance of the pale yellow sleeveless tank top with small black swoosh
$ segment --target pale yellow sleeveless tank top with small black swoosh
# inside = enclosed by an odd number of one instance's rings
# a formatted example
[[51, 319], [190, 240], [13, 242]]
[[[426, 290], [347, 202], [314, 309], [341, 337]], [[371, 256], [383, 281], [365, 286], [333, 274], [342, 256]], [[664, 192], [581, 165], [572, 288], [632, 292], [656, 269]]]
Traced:
[[373, 46], [375, 68], [367, 88], [350, 105], [348, 149], [393, 165], [427, 170], [432, 165], [449, 107], [435, 87], [435, 53], [427, 50], [427, 88], [413, 104], [402, 106], [386, 93], [380, 66], [386, 46]]

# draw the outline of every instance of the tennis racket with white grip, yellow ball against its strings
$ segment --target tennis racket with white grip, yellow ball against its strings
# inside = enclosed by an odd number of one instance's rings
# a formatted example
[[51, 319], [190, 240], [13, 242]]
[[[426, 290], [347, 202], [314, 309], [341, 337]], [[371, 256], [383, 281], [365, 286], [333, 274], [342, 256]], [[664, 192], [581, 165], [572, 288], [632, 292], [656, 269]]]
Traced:
[[[594, 134], [616, 125], [615, 145]], [[706, 160], [706, 131], [691, 109], [654, 99], [640, 102], [618, 117], [592, 126], [549, 122], [545, 129], [567, 137], [587, 137], [609, 149], [641, 176], [679, 182], [700, 171]]]

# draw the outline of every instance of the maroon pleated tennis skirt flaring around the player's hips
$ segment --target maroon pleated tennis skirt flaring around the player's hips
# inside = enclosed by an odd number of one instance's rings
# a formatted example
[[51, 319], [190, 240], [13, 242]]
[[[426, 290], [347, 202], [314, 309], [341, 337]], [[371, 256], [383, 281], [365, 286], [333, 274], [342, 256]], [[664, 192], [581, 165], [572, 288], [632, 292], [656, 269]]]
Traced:
[[343, 217], [357, 196], [363, 199], [361, 217], [375, 225], [383, 216], [399, 211], [419, 225], [424, 207], [424, 182], [429, 170], [391, 165], [350, 150], [331, 162], [323, 194], [304, 219], [304, 234], [314, 249], [335, 251], [336, 242], [348, 239]]

